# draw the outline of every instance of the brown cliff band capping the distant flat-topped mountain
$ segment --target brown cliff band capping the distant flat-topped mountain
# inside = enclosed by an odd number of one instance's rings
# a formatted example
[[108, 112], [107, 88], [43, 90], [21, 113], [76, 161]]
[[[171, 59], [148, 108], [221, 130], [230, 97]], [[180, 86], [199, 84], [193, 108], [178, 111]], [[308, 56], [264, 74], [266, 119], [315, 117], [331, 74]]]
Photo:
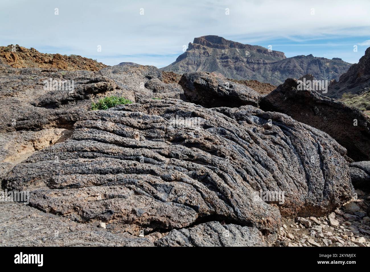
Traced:
[[262, 46], [252, 46], [250, 44], [237, 43], [235, 41], [226, 40], [225, 38], [215, 35], [207, 35], [194, 38], [193, 43], [189, 43], [188, 50], [191, 50], [192, 48], [201, 48], [199, 45], [218, 49], [228, 49], [228, 48], [246, 49], [249, 51], [279, 57], [281, 59], [286, 58], [285, 54], [280, 51], [269, 50]]

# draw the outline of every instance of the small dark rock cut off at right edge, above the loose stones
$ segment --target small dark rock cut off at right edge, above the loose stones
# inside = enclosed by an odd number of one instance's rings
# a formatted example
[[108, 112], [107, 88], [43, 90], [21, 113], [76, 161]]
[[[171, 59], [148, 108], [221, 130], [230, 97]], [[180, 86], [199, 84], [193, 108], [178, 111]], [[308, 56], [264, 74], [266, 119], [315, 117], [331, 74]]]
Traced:
[[370, 191], [370, 161], [350, 164], [351, 180], [355, 188]]

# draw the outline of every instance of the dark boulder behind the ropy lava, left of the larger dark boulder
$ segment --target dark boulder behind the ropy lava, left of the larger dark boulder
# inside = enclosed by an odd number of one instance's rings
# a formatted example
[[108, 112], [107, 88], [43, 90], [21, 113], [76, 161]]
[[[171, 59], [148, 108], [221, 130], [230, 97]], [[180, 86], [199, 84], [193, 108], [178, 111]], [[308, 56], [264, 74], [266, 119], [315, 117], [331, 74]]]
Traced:
[[251, 88], [206, 72], [186, 73], [179, 84], [187, 100], [207, 108], [258, 106], [260, 100], [259, 93]]

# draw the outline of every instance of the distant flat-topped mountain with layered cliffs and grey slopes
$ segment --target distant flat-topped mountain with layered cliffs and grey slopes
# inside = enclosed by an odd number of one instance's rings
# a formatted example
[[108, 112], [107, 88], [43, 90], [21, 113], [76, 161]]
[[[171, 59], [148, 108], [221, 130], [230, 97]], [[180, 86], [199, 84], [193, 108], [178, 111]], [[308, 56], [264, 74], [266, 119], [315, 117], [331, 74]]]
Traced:
[[295, 56], [280, 51], [237, 43], [218, 36], [194, 38], [174, 63], [161, 68], [178, 74], [205, 71], [235, 80], [258, 80], [273, 85], [286, 78], [312, 74], [317, 80], [339, 80], [351, 66], [340, 58]]

